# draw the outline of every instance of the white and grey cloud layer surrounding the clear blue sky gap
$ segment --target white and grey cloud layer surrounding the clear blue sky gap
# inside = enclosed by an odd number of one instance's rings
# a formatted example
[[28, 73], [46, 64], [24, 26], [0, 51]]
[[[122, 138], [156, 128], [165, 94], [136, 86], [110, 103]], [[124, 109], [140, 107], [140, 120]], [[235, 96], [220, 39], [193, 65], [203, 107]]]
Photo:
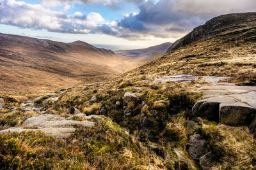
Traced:
[[[73, 34], [108, 34], [125, 39], [179, 38], [193, 27], [223, 13], [253, 11], [255, 0], [122, 0], [141, 3], [138, 13], [125, 14], [119, 21], [106, 21], [99, 13], [77, 11], [67, 15], [41, 4], [0, 0], [0, 24]], [[58, 6], [69, 3], [94, 3], [115, 6], [118, 0], [42, 0]], [[144, 2], [144, 3], [142, 3]]]

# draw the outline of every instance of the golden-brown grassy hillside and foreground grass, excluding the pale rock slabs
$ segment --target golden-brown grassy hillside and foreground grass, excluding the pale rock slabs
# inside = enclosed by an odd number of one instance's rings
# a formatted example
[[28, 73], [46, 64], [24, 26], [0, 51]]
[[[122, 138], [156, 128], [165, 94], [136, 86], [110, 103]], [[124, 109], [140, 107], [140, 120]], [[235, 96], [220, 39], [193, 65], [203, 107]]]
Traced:
[[[244, 14], [237, 15], [244, 19]], [[232, 16], [224, 15], [218, 20]], [[44, 114], [69, 117], [70, 108], [75, 107], [86, 115], [108, 118], [95, 120], [95, 127], [78, 127], [65, 141], [37, 132], [1, 134], [3, 166], [10, 169], [255, 169], [255, 137], [248, 127], [232, 127], [192, 116], [192, 107], [202, 97], [197, 88], [211, 83], [203, 78], [176, 83], [153, 81], [161, 76], [196, 74], [231, 76], [228, 81], [255, 85], [255, 16], [255, 13], [247, 14], [246, 22], [232, 20], [217, 34], [191, 41], [111, 80], [70, 87], [58, 95], [57, 101], [45, 101], [45, 97], [36, 103]], [[135, 97], [125, 99], [126, 92]], [[6, 108], [0, 109], [2, 129], [18, 127], [26, 118], [42, 114], [26, 113], [22, 108], [12, 111], [12, 107], [20, 107], [19, 99], [4, 96], [4, 101]], [[209, 155], [204, 161], [189, 154], [193, 134], [205, 143], [204, 152]]]

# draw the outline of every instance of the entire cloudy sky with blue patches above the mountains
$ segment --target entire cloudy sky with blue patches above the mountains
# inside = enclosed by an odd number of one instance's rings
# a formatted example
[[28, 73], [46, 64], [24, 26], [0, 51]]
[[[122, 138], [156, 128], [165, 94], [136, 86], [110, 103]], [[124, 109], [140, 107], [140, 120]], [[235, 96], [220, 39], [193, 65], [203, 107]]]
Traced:
[[255, 0], [0, 0], [0, 32], [110, 49], [173, 42], [225, 13], [256, 11]]

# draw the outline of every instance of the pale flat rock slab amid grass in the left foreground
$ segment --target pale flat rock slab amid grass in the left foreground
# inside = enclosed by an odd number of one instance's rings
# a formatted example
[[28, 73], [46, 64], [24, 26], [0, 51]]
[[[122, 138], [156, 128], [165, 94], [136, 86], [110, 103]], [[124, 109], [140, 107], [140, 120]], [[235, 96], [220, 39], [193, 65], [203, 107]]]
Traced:
[[90, 121], [68, 120], [57, 115], [45, 114], [28, 118], [23, 122], [22, 127], [11, 127], [0, 131], [0, 133], [42, 131], [56, 138], [67, 138], [72, 132], [76, 131], [75, 125], [93, 127], [95, 123]]

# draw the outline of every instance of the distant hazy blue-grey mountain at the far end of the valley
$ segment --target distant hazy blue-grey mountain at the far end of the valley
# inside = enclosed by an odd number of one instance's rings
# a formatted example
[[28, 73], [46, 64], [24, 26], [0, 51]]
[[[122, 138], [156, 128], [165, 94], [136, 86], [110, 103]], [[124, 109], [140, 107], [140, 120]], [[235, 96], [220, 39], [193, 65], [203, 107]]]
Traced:
[[163, 43], [161, 45], [150, 46], [148, 48], [136, 49], [136, 50], [116, 50], [115, 53], [123, 55], [125, 57], [147, 57], [152, 53], [166, 52], [168, 48], [172, 46], [172, 43]]

